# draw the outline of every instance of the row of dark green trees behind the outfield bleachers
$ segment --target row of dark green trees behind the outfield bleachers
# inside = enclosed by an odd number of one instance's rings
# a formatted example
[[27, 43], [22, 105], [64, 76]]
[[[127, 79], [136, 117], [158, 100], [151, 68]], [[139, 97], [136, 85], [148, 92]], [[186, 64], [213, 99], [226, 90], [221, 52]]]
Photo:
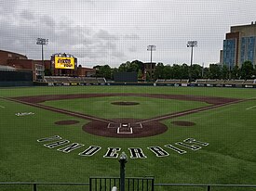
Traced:
[[[114, 80], [116, 72], [137, 72], [138, 79], [143, 76], [143, 62], [139, 60], [127, 61], [122, 63], [118, 68], [111, 68], [109, 65], [95, 66], [96, 77], [104, 77], [107, 80]], [[164, 65], [158, 63], [155, 66], [155, 73], [152, 79], [146, 74], [147, 81], [155, 81], [157, 79], [222, 79], [222, 80], [249, 80], [256, 78], [256, 68], [253, 67], [251, 61], [245, 61], [240, 68], [229, 68], [227, 65], [209, 64], [209, 67], [202, 67], [198, 64], [189, 66], [187, 64]]]

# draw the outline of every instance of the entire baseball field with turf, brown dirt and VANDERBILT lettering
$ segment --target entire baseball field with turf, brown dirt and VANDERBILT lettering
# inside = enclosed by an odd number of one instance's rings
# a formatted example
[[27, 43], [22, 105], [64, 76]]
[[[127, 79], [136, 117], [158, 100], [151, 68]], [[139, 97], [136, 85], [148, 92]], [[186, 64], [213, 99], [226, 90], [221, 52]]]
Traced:
[[[1, 88], [0, 116], [0, 182], [88, 183], [91, 176], [116, 177], [118, 158], [125, 152], [128, 177], [154, 176], [155, 183], [256, 185], [255, 89]], [[0, 185], [0, 190], [28, 186]]]

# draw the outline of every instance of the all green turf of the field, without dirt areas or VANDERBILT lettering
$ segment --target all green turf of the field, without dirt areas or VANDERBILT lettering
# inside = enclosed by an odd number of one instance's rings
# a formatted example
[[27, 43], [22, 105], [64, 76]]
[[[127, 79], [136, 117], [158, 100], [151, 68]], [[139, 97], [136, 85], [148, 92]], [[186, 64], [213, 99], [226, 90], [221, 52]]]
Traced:
[[[256, 97], [254, 89], [236, 88], [85, 86], [0, 89], [0, 96], [3, 97], [81, 93], [147, 93], [244, 99]], [[149, 118], [160, 112], [165, 114], [169, 111], [199, 108], [204, 105], [201, 102], [170, 101], [166, 103], [166, 100], [161, 99], [129, 97], [136, 99], [141, 105], [133, 106], [138, 107], [135, 112], [131, 110], [124, 114], [122, 108], [118, 109], [109, 104], [114, 98], [116, 97], [89, 98], [82, 100], [82, 104], [77, 104], [77, 100], [69, 100], [68, 104], [66, 100], [46, 104], [84, 113], [91, 112], [104, 118], [114, 118], [115, 115], [124, 117], [127, 114], [131, 117]], [[118, 176], [118, 160], [103, 158], [107, 148], [114, 146], [120, 147], [128, 157], [129, 147], [141, 147], [147, 157], [146, 159], [128, 159], [127, 176], [153, 175], [156, 183], [256, 185], [256, 107], [253, 108], [256, 106], [256, 99], [162, 121], [168, 126], [165, 134], [129, 139], [87, 134], [81, 127], [88, 121], [42, 108], [34, 108], [1, 98], [0, 106], [0, 182], [88, 182], [90, 176]], [[142, 106], [149, 108], [151, 112], [141, 114], [144, 110]], [[34, 115], [17, 117], [15, 114], [18, 112], [33, 112]], [[54, 123], [63, 120], [75, 120], [79, 123], [74, 125]], [[195, 126], [181, 127], [172, 124], [171, 121], [193, 121]], [[63, 153], [57, 148], [50, 149], [43, 146], [45, 143], [36, 141], [56, 134], [68, 139], [71, 143], [80, 143], [85, 146], [71, 153]], [[184, 148], [187, 153], [182, 155], [165, 147], [168, 144], [175, 146], [175, 143], [190, 137], [207, 142], [209, 146], [202, 146], [197, 151]], [[88, 146], [101, 146], [101, 150], [92, 157], [79, 156], [78, 154]], [[169, 156], [157, 158], [147, 148], [148, 146], [161, 146], [168, 151]], [[2, 188], [11, 190], [7, 189], [7, 186]], [[1, 187], [0, 190], [2, 191]], [[54, 190], [58, 188], [55, 187]], [[69, 189], [61, 187], [61, 190]], [[80, 189], [77, 188], [77, 190]], [[170, 187], [157, 187], [157, 190], [170, 190]]]

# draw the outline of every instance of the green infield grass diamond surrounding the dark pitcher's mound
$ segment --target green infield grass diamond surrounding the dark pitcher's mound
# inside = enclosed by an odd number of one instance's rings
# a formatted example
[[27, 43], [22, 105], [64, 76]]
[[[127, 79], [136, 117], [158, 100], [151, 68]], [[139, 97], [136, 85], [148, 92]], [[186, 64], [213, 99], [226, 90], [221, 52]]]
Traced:
[[[113, 105], [112, 103], [115, 101], [132, 101], [138, 102], [139, 105]], [[47, 101], [44, 104], [50, 107], [68, 109], [103, 119], [149, 119], [191, 108], [209, 106], [209, 104], [203, 102], [140, 96], [111, 96], [86, 99], [79, 98], [73, 100]]]

